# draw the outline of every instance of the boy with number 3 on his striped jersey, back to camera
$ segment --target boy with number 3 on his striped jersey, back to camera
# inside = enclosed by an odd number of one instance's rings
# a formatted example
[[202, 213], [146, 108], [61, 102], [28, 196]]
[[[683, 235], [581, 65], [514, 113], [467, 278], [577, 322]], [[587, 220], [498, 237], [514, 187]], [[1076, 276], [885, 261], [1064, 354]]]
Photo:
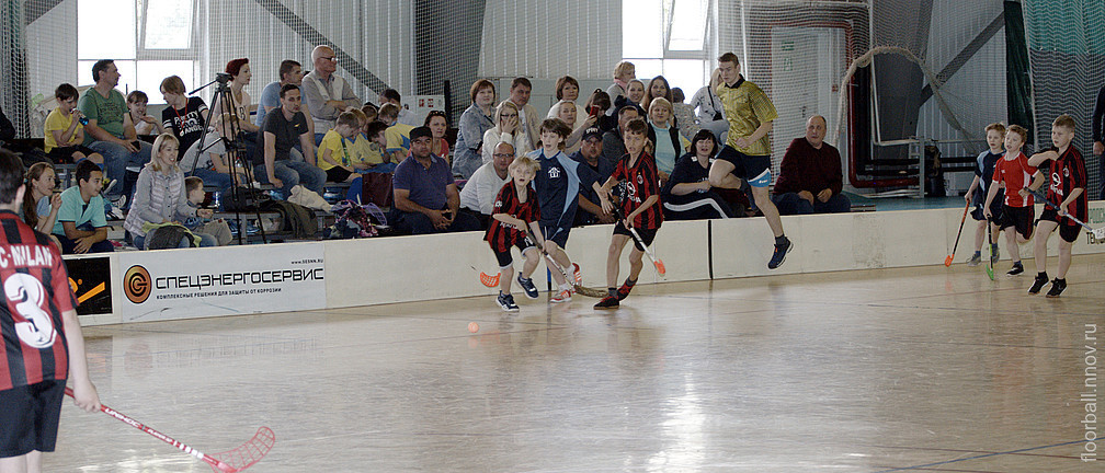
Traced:
[[99, 409], [99, 397], [62, 256], [15, 214], [22, 181], [22, 162], [0, 151], [0, 472], [39, 473], [57, 440], [65, 379], [82, 409]]

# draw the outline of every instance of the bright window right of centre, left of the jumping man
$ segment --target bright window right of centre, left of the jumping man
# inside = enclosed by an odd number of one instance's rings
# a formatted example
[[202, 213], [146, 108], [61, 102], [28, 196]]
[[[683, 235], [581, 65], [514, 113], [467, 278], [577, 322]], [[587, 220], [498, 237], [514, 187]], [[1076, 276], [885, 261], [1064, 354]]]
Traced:
[[711, 0], [634, 0], [622, 2], [622, 57], [636, 77], [663, 75], [687, 99], [709, 82], [713, 69]]

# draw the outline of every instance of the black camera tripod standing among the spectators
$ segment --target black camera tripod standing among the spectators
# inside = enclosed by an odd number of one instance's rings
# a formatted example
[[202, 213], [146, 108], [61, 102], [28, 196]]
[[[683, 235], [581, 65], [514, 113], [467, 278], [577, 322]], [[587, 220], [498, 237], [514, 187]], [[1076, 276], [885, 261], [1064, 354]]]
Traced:
[[[230, 94], [230, 74], [217, 73], [215, 79], [207, 83], [206, 85], [188, 93], [188, 95], [194, 95], [197, 92], [218, 83], [215, 86], [214, 95], [211, 97], [211, 108], [213, 110], [222, 110], [224, 117], [220, 120], [220, 141], [223, 143], [223, 148], [227, 150], [227, 165], [230, 168], [230, 197], [234, 202], [246, 202], [250, 200], [245, 193], [252, 193], [254, 190], [249, 189], [250, 183], [253, 182], [253, 166], [250, 165], [249, 160], [246, 160], [245, 146], [241, 142], [241, 137], [239, 133], [241, 129], [238, 126], [238, 107], [234, 107], [233, 98]], [[203, 146], [203, 140], [207, 138], [207, 130], [211, 126], [211, 117], [214, 114], [209, 112], [206, 122], [203, 123], [203, 135], [200, 136], [200, 141], [196, 146], [198, 152], [192, 158], [192, 174], [196, 173], [196, 164], [199, 162], [200, 153], [207, 152], [208, 149], [214, 147], [220, 141], [212, 142], [208, 146]], [[242, 174], [244, 174], [245, 182], [241, 182], [238, 174], [238, 169], [241, 168]], [[253, 216], [257, 219], [257, 228], [261, 230], [261, 241], [269, 243], [269, 237], [265, 235], [265, 226], [261, 222], [261, 208], [256, 205], [256, 200], [253, 205]], [[244, 245], [245, 243], [245, 227], [242, 221], [242, 209], [240, 206], [234, 206], [234, 222], [238, 224], [238, 244]]]

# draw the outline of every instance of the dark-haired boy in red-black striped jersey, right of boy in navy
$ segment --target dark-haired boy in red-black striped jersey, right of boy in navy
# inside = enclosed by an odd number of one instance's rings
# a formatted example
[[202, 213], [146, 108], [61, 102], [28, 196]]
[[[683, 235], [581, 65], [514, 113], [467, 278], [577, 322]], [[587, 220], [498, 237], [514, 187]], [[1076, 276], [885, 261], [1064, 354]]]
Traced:
[[630, 227], [635, 228], [644, 245], [652, 245], [656, 237], [656, 230], [664, 222], [663, 205], [660, 203], [660, 178], [656, 173], [656, 161], [649, 153], [649, 125], [638, 118], [630, 121], [622, 131], [622, 139], [625, 142], [625, 154], [618, 161], [614, 173], [610, 175], [601, 186], [594, 183], [594, 192], [602, 203], [602, 211], [610, 212], [612, 205], [610, 195], [612, 189], [618, 186], [618, 194], [621, 197], [622, 212], [625, 219], [614, 224], [613, 236], [610, 238], [610, 250], [607, 254], [607, 288], [610, 294], [594, 304], [596, 309], [617, 308], [622, 299], [629, 297], [636, 284], [636, 278], [641, 275], [644, 264], [644, 247], [633, 241], [633, 249], [629, 254], [629, 277], [625, 283], [615, 288], [618, 283], [619, 259], [625, 243], [630, 240]]

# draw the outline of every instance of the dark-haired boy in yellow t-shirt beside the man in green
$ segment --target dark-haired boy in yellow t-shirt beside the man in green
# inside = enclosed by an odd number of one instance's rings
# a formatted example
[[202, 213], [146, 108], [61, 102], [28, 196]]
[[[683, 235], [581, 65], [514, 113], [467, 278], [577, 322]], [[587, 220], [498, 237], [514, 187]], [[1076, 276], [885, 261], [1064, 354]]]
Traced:
[[84, 115], [76, 109], [76, 87], [70, 84], [62, 84], [54, 90], [57, 108], [50, 111], [42, 125], [46, 155], [57, 163], [87, 159], [103, 168], [104, 157], [84, 146], [84, 126], [81, 125]]

